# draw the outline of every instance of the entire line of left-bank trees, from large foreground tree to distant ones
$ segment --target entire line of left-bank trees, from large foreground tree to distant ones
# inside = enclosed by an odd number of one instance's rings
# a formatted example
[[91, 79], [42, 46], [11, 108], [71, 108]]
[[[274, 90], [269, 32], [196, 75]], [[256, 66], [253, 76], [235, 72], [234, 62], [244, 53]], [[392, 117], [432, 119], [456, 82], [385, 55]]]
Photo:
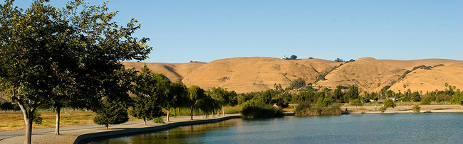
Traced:
[[[61, 9], [47, 4], [48, 0], [33, 1], [28, 9], [13, 3], [6, 0], [0, 5], [0, 90], [23, 112], [26, 143], [31, 143], [33, 121], [40, 119], [37, 109], [56, 111], [59, 135], [65, 106], [95, 111], [95, 121], [106, 125], [127, 121], [127, 108], [139, 102], [148, 107], [134, 106], [131, 113], [148, 119], [152, 117], [135, 113], [149, 109], [155, 116], [160, 108], [177, 104], [189, 104], [192, 111], [226, 104], [222, 98], [209, 98], [199, 87], [187, 91], [184, 84], [160, 74], [141, 72], [137, 77], [135, 70], [125, 69], [120, 61], [145, 60], [152, 48], [146, 45], [148, 38], [132, 37], [140, 28], [137, 20], [119, 26], [113, 21], [118, 11], [109, 12], [107, 3], [88, 6], [83, 0], [72, 0]], [[145, 80], [159, 82], [150, 85]], [[128, 92], [135, 95], [133, 99]], [[180, 97], [190, 101], [175, 100]], [[108, 120], [115, 115], [118, 119]]]

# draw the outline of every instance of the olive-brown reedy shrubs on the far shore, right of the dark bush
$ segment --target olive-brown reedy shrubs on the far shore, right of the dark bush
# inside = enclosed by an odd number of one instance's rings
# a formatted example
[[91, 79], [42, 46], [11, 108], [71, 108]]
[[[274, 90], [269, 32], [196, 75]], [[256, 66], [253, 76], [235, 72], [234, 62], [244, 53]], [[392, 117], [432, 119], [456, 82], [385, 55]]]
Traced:
[[340, 115], [340, 105], [333, 104], [330, 107], [317, 107], [311, 104], [298, 104], [294, 116], [332, 116]]

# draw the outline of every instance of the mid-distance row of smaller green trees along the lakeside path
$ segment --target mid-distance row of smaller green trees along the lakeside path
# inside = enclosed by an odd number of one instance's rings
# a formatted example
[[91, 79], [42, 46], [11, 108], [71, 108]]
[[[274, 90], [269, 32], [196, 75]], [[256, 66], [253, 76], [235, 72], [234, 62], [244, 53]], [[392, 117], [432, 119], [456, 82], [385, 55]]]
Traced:
[[[121, 103], [107, 101], [103, 109], [97, 111], [95, 123], [105, 125], [107, 128], [110, 124], [125, 123], [128, 121], [128, 113], [136, 118], [151, 121], [158, 118], [164, 113], [162, 109], [167, 111], [167, 121], [170, 121], [170, 109], [172, 108], [187, 108], [191, 112], [209, 113], [222, 108], [224, 114], [224, 106], [236, 105], [236, 93], [228, 92], [227, 89], [221, 87], [213, 87], [208, 91], [204, 91], [197, 86], [187, 88], [182, 82], [170, 82], [163, 74], [152, 72], [145, 65], [141, 72], [134, 76], [134, 84], [130, 92], [131, 103], [130, 111], [128, 106]], [[219, 115], [219, 113], [217, 112]]]

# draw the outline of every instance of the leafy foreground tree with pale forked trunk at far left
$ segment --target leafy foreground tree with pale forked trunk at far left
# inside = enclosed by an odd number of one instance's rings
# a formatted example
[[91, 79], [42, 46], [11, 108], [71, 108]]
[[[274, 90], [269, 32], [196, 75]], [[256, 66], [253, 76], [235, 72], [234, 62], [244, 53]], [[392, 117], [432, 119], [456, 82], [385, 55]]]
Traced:
[[7, 0], [0, 6], [0, 83], [19, 104], [26, 123], [26, 143], [31, 143], [34, 113], [50, 102], [53, 88], [60, 85], [58, 75], [66, 72], [61, 67], [66, 62], [61, 60], [74, 60], [66, 51], [66, 35], [71, 32], [53, 6], [34, 1], [23, 11], [12, 4]]

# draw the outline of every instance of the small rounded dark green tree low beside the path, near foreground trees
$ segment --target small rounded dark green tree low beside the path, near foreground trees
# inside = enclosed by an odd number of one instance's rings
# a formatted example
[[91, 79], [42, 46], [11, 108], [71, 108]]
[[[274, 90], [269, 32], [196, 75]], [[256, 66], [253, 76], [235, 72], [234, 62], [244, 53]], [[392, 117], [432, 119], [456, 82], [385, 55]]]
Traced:
[[125, 123], [129, 121], [127, 109], [123, 104], [114, 101], [105, 102], [103, 108], [96, 111], [96, 116], [93, 121], [98, 125], [104, 125], [108, 128], [109, 125]]

